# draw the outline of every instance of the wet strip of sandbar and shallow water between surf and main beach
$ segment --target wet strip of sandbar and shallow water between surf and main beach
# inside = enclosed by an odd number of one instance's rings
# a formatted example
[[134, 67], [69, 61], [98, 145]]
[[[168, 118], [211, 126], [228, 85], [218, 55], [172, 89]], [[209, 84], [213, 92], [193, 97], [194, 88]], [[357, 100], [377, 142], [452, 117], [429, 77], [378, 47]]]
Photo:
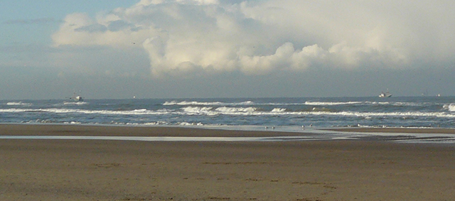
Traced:
[[120, 141], [388, 141], [455, 145], [455, 129], [0, 124], [0, 139]]

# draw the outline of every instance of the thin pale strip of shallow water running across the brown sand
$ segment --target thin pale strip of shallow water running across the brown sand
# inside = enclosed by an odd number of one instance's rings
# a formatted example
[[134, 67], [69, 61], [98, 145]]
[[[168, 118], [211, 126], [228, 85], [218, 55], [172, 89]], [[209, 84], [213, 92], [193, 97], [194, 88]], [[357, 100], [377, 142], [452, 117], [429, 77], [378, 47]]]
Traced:
[[[185, 126], [200, 128], [199, 126]], [[206, 129], [225, 129], [240, 131], [261, 131], [259, 126], [208, 126]], [[266, 137], [209, 137], [209, 136], [0, 136], [0, 139], [34, 139], [34, 140], [119, 140], [119, 141], [394, 141], [400, 143], [453, 143], [454, 134], [412, 134], [412, 133], [380, 133], [380, 132], [346, 132], [322, 129], [297, 129], [296, 126], [282, 126], [267, 131], [277, 131], [282, 136]], [[298, 132], [300, 136], [286, 136], [286, 132]]]

